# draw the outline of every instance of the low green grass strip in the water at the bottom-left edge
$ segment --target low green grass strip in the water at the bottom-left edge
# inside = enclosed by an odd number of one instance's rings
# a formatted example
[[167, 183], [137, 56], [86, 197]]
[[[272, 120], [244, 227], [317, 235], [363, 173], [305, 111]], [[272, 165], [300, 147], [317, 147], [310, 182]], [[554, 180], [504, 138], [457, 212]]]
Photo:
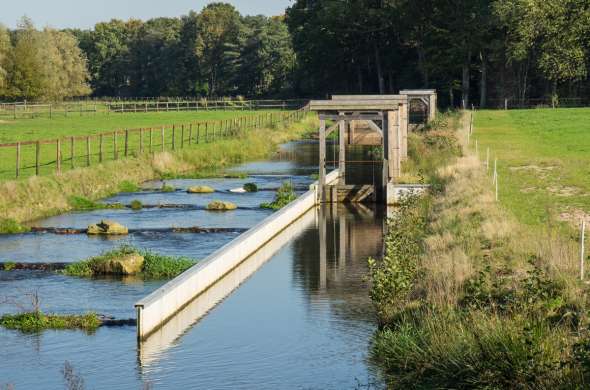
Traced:
[[94, 331], [101, 325], [96, 313], [83, 315], [44, 314], [27, 312], [5, 314], [0, 317], [0, 326], [6, 329], [19, 330], [24, 333], [35, 333], [46, 329], [82, 329]]

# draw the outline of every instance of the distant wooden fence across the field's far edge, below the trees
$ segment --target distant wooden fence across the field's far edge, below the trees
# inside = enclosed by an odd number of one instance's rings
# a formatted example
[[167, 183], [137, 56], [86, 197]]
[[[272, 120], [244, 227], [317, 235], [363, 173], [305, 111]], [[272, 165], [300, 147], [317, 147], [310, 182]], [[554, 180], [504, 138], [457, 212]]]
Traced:
[[0, 118], [33, 119], [83, 115], [153, 113], [181, 111], [268, 111], [298, 110], [305, 100], [82, 100], [60, 103], [10, 102], [0, 103]]

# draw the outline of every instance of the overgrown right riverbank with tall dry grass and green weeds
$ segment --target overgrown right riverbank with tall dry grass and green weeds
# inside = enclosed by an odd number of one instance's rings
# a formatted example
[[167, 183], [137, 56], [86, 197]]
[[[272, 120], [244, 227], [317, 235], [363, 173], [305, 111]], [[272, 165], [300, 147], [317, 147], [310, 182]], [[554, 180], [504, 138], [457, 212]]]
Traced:
[[[461, 140], [468, 127], [464, 117]], [[519, 223], [464, 151], [439, 169], [443, 191], [392, 220], [415, 231], [409, 250], [410, 235], [387, 237], [373, 360], [394, 387], [584, 388], [590, 336], [576, 247], [555, 228]]]

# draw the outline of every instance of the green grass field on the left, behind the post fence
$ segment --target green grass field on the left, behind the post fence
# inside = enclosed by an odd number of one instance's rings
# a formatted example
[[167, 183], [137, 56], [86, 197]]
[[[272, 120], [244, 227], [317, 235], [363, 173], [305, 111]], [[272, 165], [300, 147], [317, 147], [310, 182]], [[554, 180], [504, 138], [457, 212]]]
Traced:
[[[53, 140], [61, 139], [61, 170], [74, 167], [84, 167], [100, 162], [100, 138], [98, 134], [109, 132], [102, 137], [102, 161], [125, 157], [125, 130], [129, 131], [127, 155], [137, 155], [141, 151], [153, 151], [181, 148], [189, 143], [214, 142], [220, 137], [227, 137], [229, 120], [247, 118], [242, 123], [248, 123], [248, 128], [254, 127], [255, 118], [262, 120], [261, 124], [268, 125], [270, 114], [273, 121], [279, 116], [286, 115], [279, 111], [205, 111], [205, 112], [167, 112], [167, 113], [127, 113], [127, 114], [97, 114], [70, 116], [68, 118], [35, 118], [0, 121], [0, 143], [15, 143], [36, 140], [52, 140], [42, 143], [39, 151], [39, 174], [54, 173], [57, 168], [57, 143]], [[196, 125], [195, 123], [202, 125]], [[195, 125], [189, 127], [189, 124]], [[205, 123], [208, 123], [205, 126]], [[172, 125], [176, 125], [173, 130]], [[184, 130], [182, 128], [184, 125]], [[161, 128], [165, 127], [164, 138]], [[149, 130], [152, 129], [152, 130]], [[117, 131], [117, 135], [112, 134]], [[85, 137], [91, 138], [87, 141]], [[189, 141], [190, 136], [190, 141]], [[74, 140], [72, 147], [71, 137]], [[150, 141], [151, 138], [151, 141]], [[162, 142], [163, 140], [163, 142]], [[140, 147], [140, 145], [143, 145]], [[88, 157], [87, 150], [90, 150]], [[36, 172], [36, 145], [21, 145], [19, 178], [33, 176]], [[0, 180], [16, 177], [16, 146], [0, 147]]]

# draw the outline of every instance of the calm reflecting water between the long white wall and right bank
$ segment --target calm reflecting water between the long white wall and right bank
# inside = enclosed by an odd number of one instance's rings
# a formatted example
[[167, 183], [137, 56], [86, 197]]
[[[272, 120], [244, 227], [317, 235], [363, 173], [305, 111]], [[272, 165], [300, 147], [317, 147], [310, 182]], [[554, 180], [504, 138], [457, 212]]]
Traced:
[[375, 328], [364, 277], [366, 258], [381, 255], [382, 214], [352, 205], [306, 214], [141, 345], [143, 380], [221, 389], [378, 383], [366, 362]]

